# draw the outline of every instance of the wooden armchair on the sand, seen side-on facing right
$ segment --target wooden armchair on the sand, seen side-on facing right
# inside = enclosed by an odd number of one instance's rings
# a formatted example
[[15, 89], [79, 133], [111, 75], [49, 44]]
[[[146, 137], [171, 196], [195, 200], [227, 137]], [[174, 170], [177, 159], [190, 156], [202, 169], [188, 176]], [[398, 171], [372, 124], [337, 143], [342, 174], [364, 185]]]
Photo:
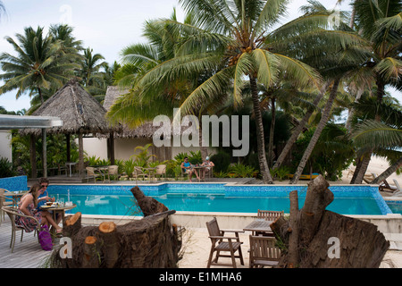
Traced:
[[[233, 268], [236, 268], [235, 258], [239, 258], [240, 264], [244, 265], [243, 255], [241, 253], [241, 244], [243, 242], [240, 242], [239, 239], [239, 232], [244, 231], [220, 230], [218, 222], [216, 221], [216, 217], [214, 217], [212, 221], [206, 223], [206, 228], [208, 229], [209, 238], [211, 239], [212, 243], [206, 268], [210, 268], [211, 265], [232, 266]], [[234, 232], [235, 236], [225, 237], [225, 232]], [[239, 254], [236, 256], [235, 253], [237, 251], [239, 252]], [[213, 259], [214, 252], [216, 252], [216, 256]], [[221, 252], [230, 252], [230, 255], [222, 255]], [[230, 257], [231, 264], [218, 263], [219, 257]]]

